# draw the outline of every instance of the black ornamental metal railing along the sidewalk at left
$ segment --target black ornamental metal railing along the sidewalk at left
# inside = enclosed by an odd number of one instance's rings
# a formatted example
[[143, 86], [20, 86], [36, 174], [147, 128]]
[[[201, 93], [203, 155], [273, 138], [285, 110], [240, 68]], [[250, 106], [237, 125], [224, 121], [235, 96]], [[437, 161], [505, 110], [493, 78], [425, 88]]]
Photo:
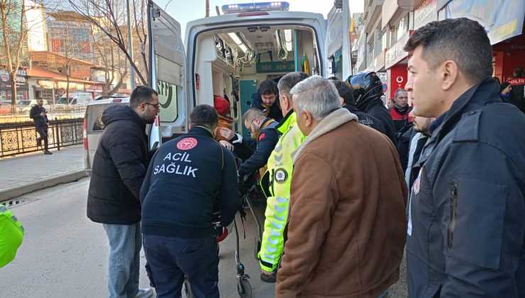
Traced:
[[[83, 143], [83, 118], [50, 121], [48, 127], [48, 148]], [[37, 144], [39, 138], [33, 123], [11, 123], [0, 126], [0, 158], [43, 150]]]

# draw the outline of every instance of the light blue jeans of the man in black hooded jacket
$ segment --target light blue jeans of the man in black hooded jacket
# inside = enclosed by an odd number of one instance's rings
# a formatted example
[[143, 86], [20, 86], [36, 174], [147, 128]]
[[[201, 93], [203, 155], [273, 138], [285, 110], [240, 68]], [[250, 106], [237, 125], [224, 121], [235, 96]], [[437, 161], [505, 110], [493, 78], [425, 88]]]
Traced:
[[105, 224], [109, 239], [109, 298], [133, 298], [138, 292], [140, 269], [140, 222], [131, 225]]

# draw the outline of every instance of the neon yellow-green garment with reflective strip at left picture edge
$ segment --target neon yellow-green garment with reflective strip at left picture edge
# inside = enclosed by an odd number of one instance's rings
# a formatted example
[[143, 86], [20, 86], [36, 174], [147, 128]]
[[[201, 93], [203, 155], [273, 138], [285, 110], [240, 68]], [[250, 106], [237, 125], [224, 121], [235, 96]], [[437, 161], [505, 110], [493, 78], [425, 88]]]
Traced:
[[25, 233], [11, 210], [0, 204], [0, 268], [14, 260]]

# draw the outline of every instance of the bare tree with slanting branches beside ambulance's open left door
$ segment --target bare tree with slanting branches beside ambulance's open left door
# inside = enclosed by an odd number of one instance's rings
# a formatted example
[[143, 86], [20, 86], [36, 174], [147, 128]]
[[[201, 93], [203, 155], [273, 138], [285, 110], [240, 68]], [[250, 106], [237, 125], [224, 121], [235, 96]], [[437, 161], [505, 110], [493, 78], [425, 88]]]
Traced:
[[[93, 26], [104, 33], [121, 51], [136, 72], [141, 84], [148, 84], [148, 57], [145, 51], [147, 30], [145, 28], [146, 4], [144, 0], [132, 1], [131, 13], [133, 15], [132, 31], [126, 28], [126, 6], [121, 0], [69, 0], [72, 8], [77, 11]], [[134, 33], [134, 34], [133, 34]], [[140, 42], [140, 55], [143, 58], [143, 67], [131, 59], [128, 51], [128, 34], [133, 34]]]

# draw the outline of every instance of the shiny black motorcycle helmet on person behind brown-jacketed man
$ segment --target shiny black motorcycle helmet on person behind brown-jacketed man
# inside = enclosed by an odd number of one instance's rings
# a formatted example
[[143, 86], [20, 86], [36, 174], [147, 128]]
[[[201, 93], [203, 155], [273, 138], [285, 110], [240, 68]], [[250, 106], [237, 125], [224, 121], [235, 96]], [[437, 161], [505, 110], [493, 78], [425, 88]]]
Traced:
[[358, 108], [372, 99], [379, 99], [383, 95], [381, 79], [377, 77], [375, 72], [359, 72], [357, 75], [348, 77], [346, 82], [353, 87], [353, 98]]

